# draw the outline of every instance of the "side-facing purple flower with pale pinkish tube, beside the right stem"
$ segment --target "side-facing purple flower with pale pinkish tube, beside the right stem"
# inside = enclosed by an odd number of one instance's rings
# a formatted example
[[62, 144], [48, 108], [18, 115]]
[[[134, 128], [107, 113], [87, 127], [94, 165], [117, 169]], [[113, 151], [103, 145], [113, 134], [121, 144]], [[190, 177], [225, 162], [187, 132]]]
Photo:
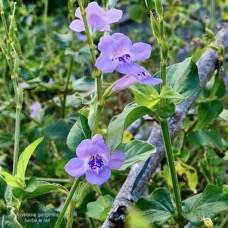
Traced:
[[127, 74], [115, 82], [112, 93], [117, 93], [135, 83], [157, 85], [162, 83], [162, 80], [160, 78], [153, 78], [144, 67], [135, 64], [132, 74]]

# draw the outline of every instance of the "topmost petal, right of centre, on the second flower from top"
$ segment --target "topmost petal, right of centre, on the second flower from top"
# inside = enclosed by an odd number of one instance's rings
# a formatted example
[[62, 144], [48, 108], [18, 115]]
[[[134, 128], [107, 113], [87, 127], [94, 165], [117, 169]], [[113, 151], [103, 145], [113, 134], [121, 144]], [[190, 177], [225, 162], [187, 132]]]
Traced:
[[132, 42], [127, 36], [122, 33], [114, 33], [112, 37], [116, 40], [116, 43], [118, 45], [118, 55], [126, 54], [129, 52], [132, 46]]

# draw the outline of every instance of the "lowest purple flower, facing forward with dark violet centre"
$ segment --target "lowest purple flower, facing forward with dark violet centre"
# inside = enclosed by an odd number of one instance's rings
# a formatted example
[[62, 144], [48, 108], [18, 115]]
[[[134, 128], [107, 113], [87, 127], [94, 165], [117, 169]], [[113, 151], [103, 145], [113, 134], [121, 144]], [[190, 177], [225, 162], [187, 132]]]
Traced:
[[125, 160], [125, 155], [115, 151], [110, 155], [109, 149], [100, 134], [92, 140], [83, 140], [76, 149], [77, 158], [72, 158], [64, 167], [73, 177], [86, 175], [91, 184], [102, 185], [110, 176], [110, 169], [119, 169]]

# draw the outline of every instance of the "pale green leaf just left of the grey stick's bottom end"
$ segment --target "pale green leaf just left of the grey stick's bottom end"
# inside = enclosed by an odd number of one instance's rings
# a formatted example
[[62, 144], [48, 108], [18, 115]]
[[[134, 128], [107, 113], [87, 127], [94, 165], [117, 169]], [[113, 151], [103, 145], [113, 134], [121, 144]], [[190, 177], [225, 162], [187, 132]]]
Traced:
[[87, 204], [86, 214], [91, 218], [104, 221], [108, 215], [109, 210], [111, 209], [113, 201], [113, 197], [105, 195], [102, 198], [96, 200], [95, 202], [90, 202]]

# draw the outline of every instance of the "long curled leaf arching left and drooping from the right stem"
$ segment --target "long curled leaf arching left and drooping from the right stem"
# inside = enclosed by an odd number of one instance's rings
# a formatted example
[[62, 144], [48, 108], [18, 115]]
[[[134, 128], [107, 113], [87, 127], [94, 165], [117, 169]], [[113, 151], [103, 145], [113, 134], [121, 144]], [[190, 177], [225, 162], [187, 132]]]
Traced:
[[124, 108], [121, 114], [114, 116], [107, 129], [107, 145], [110, 151], [113, 152], [121, 143], [124, 130], [130, 124], [140, 117], [152, 113], [153, 112], [147, 107], [138, 106], [136, 103], [132, 102]]

